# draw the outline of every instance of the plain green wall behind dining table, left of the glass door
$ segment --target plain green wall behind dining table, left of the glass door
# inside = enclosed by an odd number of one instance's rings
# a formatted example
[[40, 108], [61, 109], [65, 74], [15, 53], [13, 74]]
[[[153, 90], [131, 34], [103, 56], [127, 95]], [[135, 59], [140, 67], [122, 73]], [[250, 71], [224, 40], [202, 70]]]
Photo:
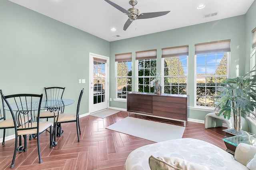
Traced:
[[[44, 94], [44, 87], [66, 87], [63, 98], [75, 103], [65, 107], [65, 112], [75, 113], [84, 88], [80, 115], [88, 113], [89, 53], [109, 56], [110, 43], [0, 0], [0, 89], [5, 95]], [[86, 83], [78, 84], [78, 79]]]

